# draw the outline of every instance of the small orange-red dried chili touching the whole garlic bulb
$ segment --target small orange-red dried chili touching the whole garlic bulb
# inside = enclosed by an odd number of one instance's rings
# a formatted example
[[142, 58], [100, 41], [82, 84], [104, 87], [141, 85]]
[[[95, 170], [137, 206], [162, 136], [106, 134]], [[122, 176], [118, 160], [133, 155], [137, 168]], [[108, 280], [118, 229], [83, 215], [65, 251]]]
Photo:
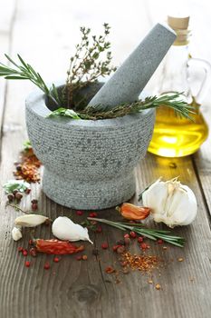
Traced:
[[134, 204], [122, 204], [118, 211], [125, 219], [144, 220], [149, 216], [150, 208]]

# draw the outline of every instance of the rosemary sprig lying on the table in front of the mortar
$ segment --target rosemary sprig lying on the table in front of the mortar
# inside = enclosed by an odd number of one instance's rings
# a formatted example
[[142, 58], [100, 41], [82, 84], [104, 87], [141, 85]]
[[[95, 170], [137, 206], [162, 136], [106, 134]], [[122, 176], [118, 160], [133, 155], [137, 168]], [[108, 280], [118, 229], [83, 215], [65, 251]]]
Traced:
[[146, 227], [144, 227], [143, 224], [132, 224], [131, 225], [128, 223], [113, 222], [113, 221], [106, 220], [106, 219], [98, 219], [96, 217], [88, 217], [87, 219], [90, 221], [97, 221], [97, 222], [100, 222], [102, 224], [108, 224], [108, 225], [116, 227], [122, 231], [133, 231], [137, 234], [144, 235], [153, 241], [157, 241], [158, 239], [161, 239], [165, 242], [176, 245], [178, 247], [183, 247], [184, 243], [185, 243], [185, 239], [183, 237], [170, 235], [170, 233], [171, 233], [170, 231], [147, 229]]

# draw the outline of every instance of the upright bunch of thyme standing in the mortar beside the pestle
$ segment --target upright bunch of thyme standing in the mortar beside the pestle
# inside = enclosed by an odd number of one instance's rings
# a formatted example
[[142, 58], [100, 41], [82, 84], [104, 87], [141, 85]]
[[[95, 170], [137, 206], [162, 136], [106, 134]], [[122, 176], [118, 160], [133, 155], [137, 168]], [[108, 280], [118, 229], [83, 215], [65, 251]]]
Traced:
[[110, 34], [110, 25], [104, 23], [103, 35], [91, 35], [91, 29], [82, 26], [81, 43], [76, 45], [75, 54], [71, 57], [67, 80], [64, 91], [67, 93], [67, 108], [73, 104], [73, 94], [82, 87], [96, 82], [105, 75], [110, 75], [116, 67], [110, 65], [112, 56], [110, 42], [107, 37]]

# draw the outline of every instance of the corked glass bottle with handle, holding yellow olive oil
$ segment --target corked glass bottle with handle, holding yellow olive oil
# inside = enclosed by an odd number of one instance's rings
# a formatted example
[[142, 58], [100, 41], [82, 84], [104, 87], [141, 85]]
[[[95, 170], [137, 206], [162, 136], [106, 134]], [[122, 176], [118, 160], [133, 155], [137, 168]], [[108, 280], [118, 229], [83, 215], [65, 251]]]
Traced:
[[[192, 115], [194, 122], [191, 122], [188, 119], [178, 118], [174, 110], [164, 105], [157, 109], [149, 152], [165, 157], [181, 157], [195, 153], [208, 135], [208, 126], [201, 114], [200, 103], [209, 84], [211, 68], [206, 61], [194, 59], [189, 55], [188, 22], [189, 17], [168, 16], [168, 25], [177, 33], [177, 39], [166, 56], [156, 93], [183, 92], [182, 97], [193, 106], [196, 114]], [[195, 96], [192, 93], [193, 83], [191, 82], [193, 66], [197, 73], [198, 67], [200, 68], [200, 75], [204, 72], [200, 88]]]

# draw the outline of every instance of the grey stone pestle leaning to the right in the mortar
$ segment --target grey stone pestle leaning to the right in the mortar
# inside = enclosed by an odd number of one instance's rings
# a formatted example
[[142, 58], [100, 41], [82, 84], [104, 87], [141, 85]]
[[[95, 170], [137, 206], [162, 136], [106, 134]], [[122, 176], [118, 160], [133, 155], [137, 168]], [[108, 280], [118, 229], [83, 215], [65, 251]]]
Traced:
[[138, 100], [175, 39], [176, 34], [170, 27], [155, 25], [88, 105], [112, 109]]

